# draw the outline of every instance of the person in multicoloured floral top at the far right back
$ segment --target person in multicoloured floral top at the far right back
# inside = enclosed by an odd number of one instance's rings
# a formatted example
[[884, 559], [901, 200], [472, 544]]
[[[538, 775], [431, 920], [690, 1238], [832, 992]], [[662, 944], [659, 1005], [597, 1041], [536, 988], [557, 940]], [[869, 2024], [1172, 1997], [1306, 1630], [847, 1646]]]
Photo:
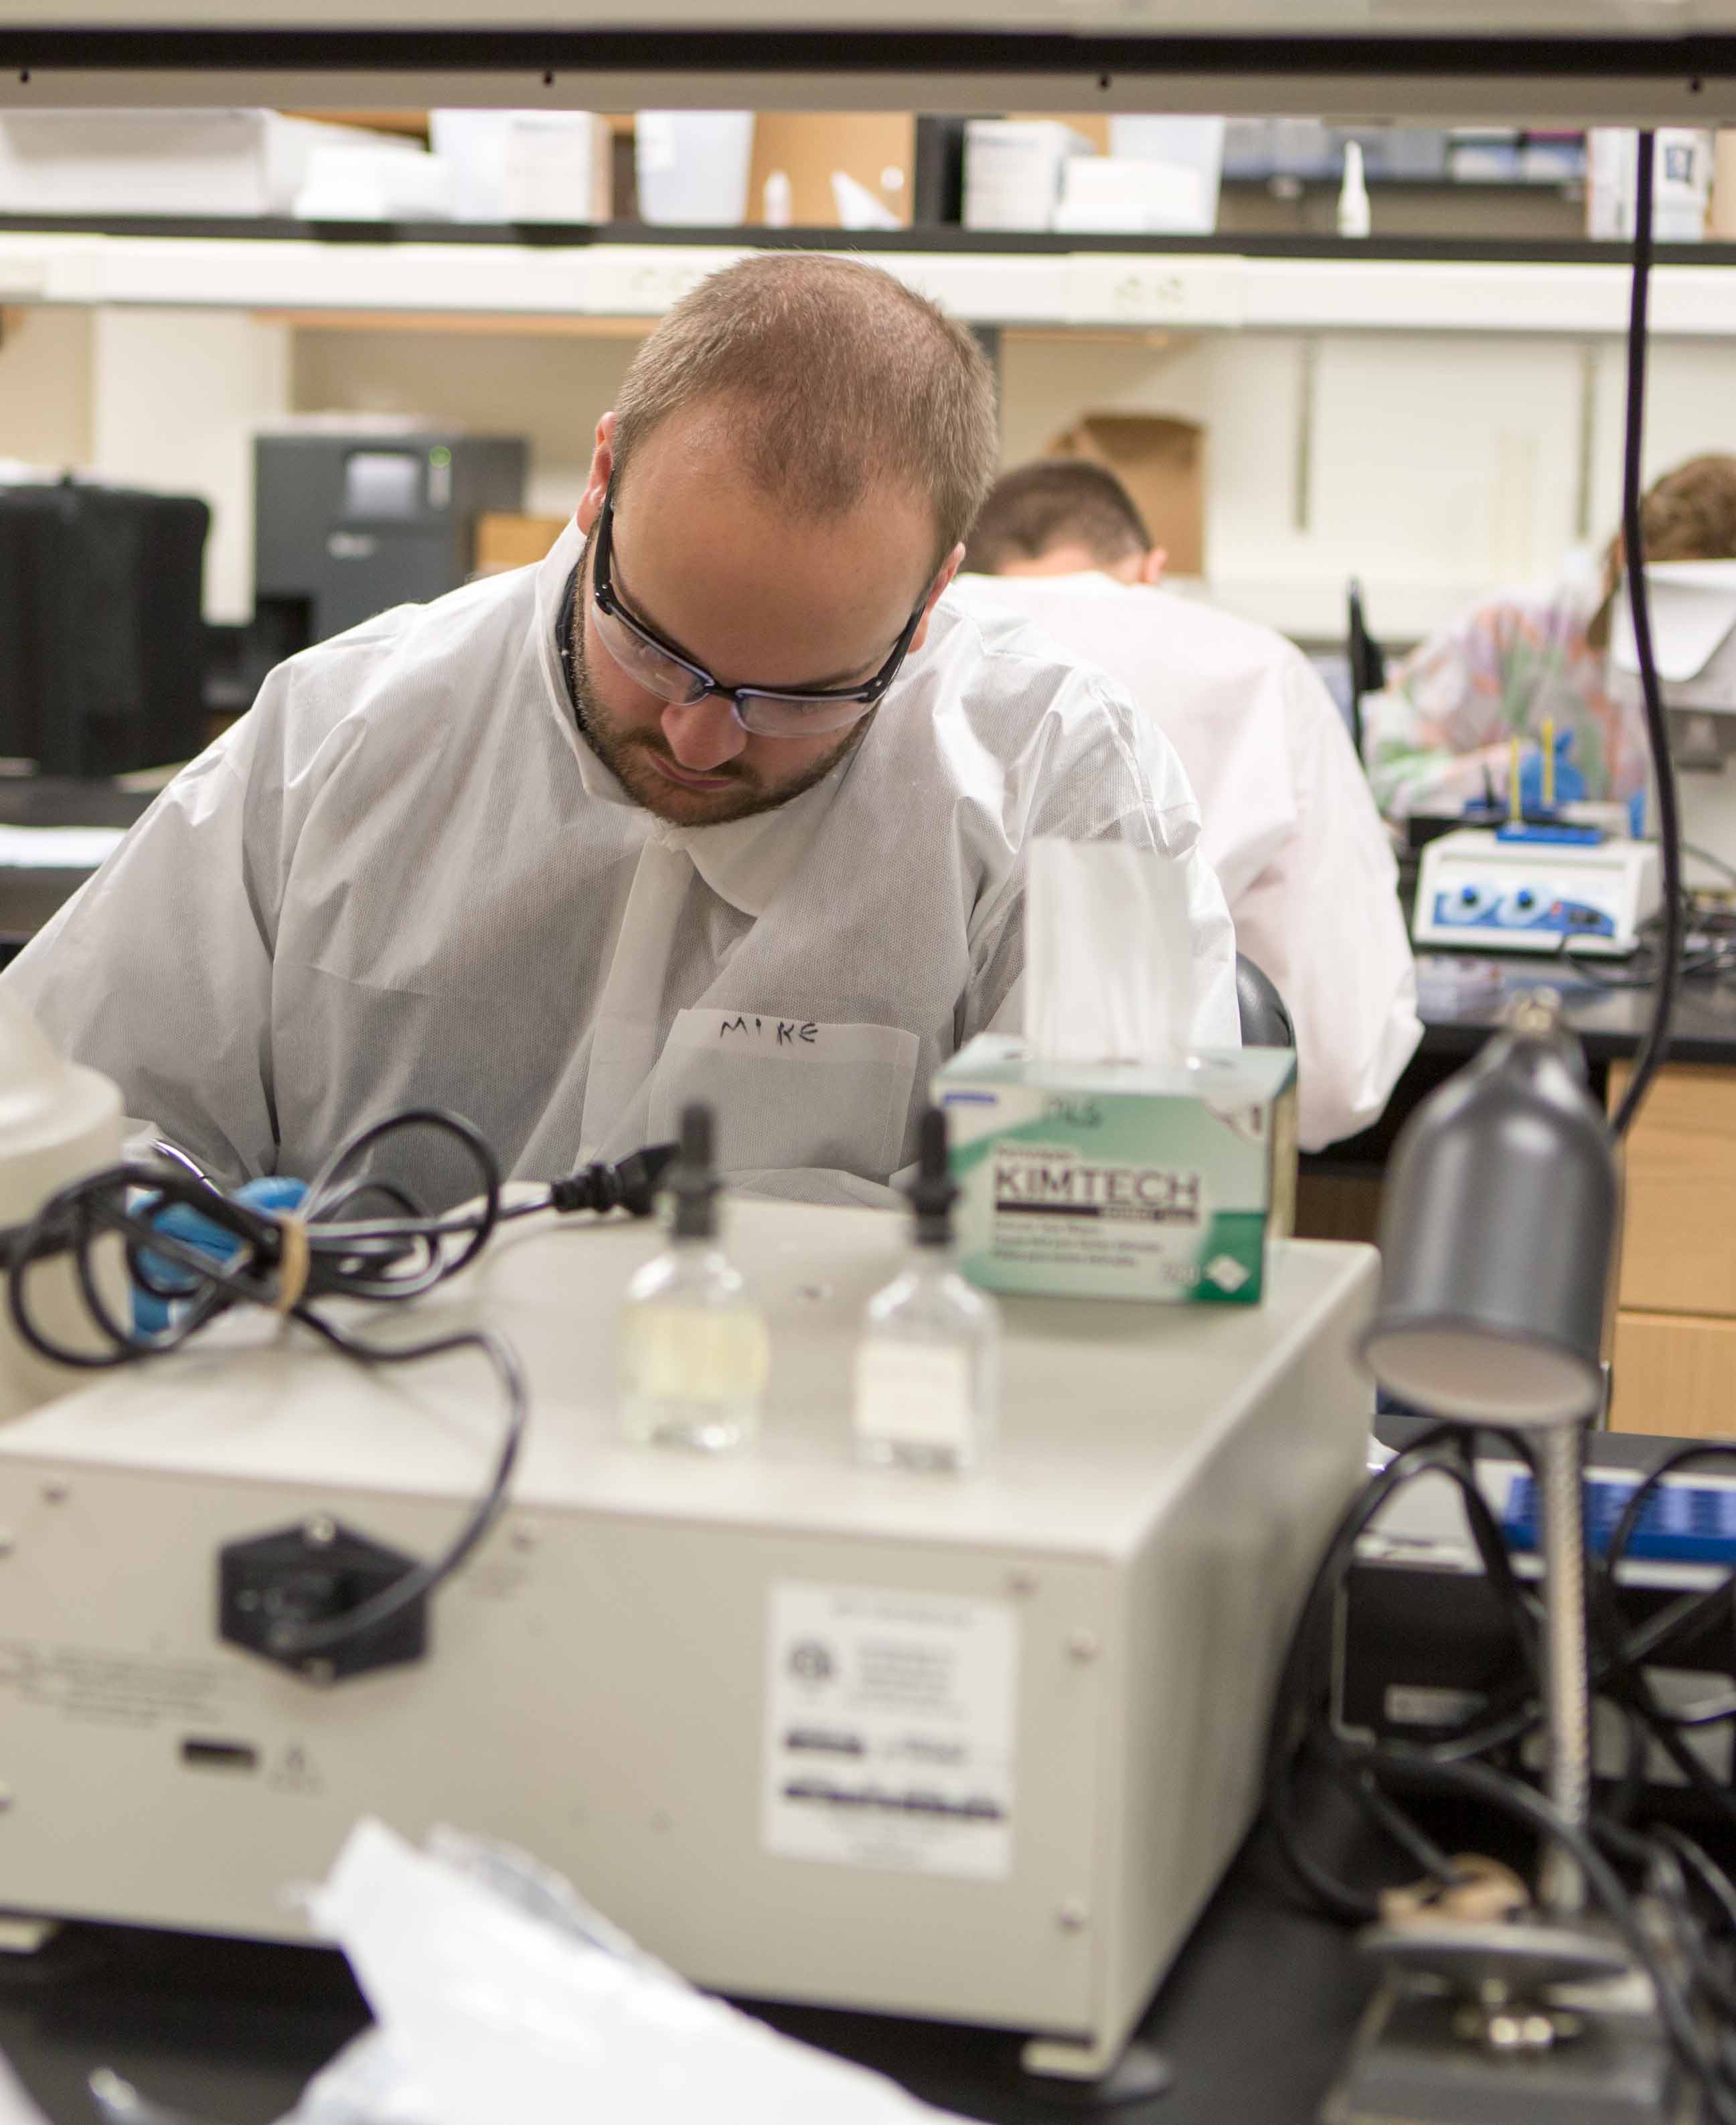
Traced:
[[[1640, 504], [1640, 536], [1647, 561], [1736, 559], [1736, 457], [1694, 457], [1666, 472]], [[1392, 820], [1462, 812], [1490, 788], [1504, 803], [1511, 742], [1534, 759], [1545, 722], [1585, 797], [1636, 797], [1647, 780], [1645, 725], [1638, 708], [1613, 699], [1606, 676], [1619, 580], [1617, 536], [1600, 595], [1564, 586], [1504, 597], [1394, 663], [1381, 693], [1362, 701], [1362, 754], [1381, 812]], [[1562, 752], [1564, 733], [1572, 742]]]

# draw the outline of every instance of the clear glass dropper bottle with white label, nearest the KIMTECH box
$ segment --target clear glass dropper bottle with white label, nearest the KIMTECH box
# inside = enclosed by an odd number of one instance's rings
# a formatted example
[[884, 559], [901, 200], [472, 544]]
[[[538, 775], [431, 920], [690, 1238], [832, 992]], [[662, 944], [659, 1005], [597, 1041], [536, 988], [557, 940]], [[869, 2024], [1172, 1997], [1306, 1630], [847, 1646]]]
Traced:
[[914, 1245], [873, 1294], [856, 1347], [856, 1454], [878, 1466], [973, 1468], [994, 1443], [1001, 1400], [1001, 1309], [969, 1286], [952, 1254], [946, 1114], [922, 1116], [909, 1186]]

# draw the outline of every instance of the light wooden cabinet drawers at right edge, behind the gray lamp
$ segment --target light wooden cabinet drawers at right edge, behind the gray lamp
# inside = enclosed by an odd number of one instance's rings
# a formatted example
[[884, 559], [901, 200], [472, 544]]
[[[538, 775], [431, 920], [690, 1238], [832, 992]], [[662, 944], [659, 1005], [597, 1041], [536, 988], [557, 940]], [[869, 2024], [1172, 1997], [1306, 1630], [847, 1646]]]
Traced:
[[1611, 1426], [1736, 1436], [1736, 1069], [1666, 1065], [1623, 1167]]

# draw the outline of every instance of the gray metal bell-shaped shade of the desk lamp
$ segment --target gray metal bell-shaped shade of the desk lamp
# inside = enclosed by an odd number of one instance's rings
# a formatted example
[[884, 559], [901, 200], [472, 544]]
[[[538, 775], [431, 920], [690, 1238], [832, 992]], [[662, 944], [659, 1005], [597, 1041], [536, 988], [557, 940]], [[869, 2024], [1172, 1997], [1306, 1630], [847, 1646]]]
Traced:
[[1602, 1394], [1615, 1148], [1555, 999], [1515, 1018], [1398, 1135], [1362, 1352], [1434, 1415], [1566, 1424]]

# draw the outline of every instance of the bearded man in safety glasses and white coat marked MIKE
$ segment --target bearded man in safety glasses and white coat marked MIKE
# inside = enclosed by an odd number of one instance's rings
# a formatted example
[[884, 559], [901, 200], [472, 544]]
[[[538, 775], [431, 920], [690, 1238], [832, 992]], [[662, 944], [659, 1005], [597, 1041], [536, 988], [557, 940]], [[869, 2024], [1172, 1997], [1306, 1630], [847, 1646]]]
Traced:
[[939, 604], [992, 465], [990, 374], [931, 304], [839, 259], [714, 276], [548, 559], [280, 665], [6, 984], [227, 1177], [408, 1103], [552, 1177], [701, 1096], [742, 1184], [890, 1201], [935, 1067], [1018, 1024], [1048, 833], [1177, 865], [1192, 1033], [1235, 1043], [1171, 748]]

